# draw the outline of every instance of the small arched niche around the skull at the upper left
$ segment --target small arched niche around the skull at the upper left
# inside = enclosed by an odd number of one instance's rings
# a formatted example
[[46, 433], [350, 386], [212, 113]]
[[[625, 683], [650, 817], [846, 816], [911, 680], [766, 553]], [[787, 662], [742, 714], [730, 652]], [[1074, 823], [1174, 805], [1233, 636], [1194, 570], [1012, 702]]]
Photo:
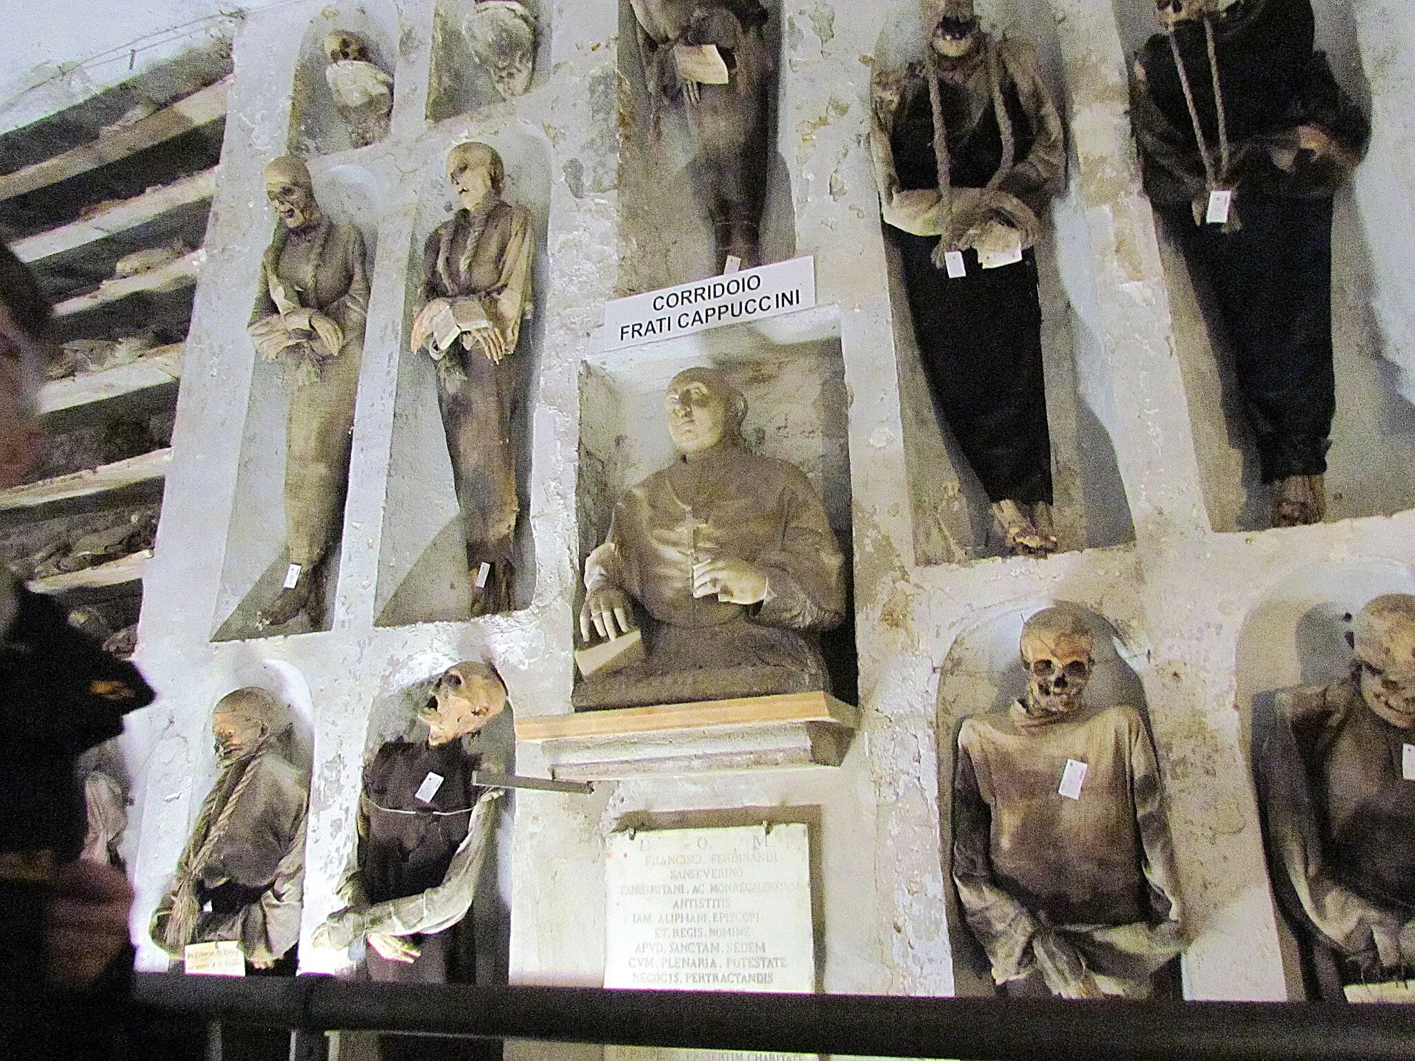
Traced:
[[369, 61], [388, 76], [398, 65], [398, 8], [388, 0], [327, 4], [310, 20], [300, 41], [290, 96], [290, 151], [301, 156], [333, 154], [362, 144], [340, 116], [325, 79], [328, 58], [324, 37], [337, 30], [357, 33], [368, 42]]

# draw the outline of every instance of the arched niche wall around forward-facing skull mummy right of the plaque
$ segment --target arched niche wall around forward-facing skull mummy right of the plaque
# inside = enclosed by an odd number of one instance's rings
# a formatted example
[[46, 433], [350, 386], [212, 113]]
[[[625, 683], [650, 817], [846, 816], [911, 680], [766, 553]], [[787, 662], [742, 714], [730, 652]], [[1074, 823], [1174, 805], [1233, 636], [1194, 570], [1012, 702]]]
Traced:
[[[938, 678], [938, 812], [944, 863], [945, 914], [954, 963], [955, 995], [990, 997], [999, 995], [989, 972], [988, 956], [962, 915], [952, 883], [952, 791], [958, 757], [958, 730], [964, 719], [1006, 712], [1026, 690], [1027, 672], [1019, 642], [1022, 627], [1041, 608], [1064, 604], [1085, 620], [1094, 639], [1094, 669], [1087, 685], [1087, 705], [1128, 705], [1149, 724], [1145, 689], [1131, 666], [1139, 649], [1128, 645], [1102, 615], [1060, 600], [1034, 598], [992, 608], [966, 625], [948, 648]], [[1163, 774], [1163, 770], [1162, 770]], [[1163, 781], [1163, 777], [1162, 777]], [[1156, 975], [1156, 997], [1177, 997], [1174, 963]]]

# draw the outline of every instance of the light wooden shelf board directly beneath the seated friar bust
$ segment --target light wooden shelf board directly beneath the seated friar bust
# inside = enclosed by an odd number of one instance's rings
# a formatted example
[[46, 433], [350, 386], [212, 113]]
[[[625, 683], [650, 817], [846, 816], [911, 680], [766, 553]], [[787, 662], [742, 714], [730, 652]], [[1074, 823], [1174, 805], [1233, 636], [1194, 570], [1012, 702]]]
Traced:
[[516, 740], [631, 737], [669, 730], [811, 721], [856, 729], [860, 721], [860, 709], [836, 700], [829, 693], [784, 693], [781, 696], [747, 696], [702, 703], [665, 703], [654, 707], [617, 707], [572, 714], [538, 714], [516, 719]]

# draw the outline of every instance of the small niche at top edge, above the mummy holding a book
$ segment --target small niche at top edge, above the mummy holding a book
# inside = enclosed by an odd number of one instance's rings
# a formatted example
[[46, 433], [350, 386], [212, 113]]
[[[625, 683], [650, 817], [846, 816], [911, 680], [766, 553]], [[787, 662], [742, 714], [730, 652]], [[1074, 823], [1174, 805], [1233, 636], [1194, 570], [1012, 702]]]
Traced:
[[[441, 122], [515, 99], [550, 75], [550, 17], [546, 0], [439, 0], [433, 8], [427, 120]], [[511, 75], [526, 30], [533, 34], [529, 81]], [[490, 59], [490, 62], [488, 62]], [[499, 74], [499, 76], [498, 76]]]

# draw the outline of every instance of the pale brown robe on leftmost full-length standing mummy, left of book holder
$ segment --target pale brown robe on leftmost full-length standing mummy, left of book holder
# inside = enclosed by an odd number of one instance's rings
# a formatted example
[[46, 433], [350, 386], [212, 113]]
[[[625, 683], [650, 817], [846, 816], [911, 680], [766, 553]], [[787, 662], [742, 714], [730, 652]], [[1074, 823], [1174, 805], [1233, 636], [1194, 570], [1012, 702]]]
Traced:
[[286, 348], [294, 362], [286, 419], [286, 540], [290, 563], [311, 567], [324, 559], [344, 508], [369, 282], [364, 236], [354, 225], [321, 218], [306, 228], [282, 228], [266, 250], [249, 331], [265, 358], [282, 354], [282, 320], [307, 320], [300, 310], [317, 310], [341, 332], [333, 354], [331, 335], [318, 332], [314, 342]]

